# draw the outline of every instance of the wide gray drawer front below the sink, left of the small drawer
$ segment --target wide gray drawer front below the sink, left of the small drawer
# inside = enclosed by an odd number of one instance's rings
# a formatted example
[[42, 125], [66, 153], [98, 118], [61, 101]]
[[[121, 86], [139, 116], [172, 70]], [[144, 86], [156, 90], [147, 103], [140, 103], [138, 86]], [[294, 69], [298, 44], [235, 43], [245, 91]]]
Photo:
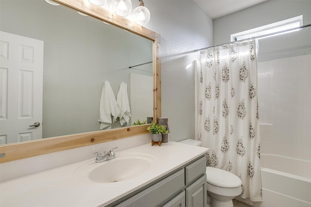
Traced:
[[184, 169], [161, 180], [146, 190], [117, 205], [117, 207], [155, 207], [184, 188]]

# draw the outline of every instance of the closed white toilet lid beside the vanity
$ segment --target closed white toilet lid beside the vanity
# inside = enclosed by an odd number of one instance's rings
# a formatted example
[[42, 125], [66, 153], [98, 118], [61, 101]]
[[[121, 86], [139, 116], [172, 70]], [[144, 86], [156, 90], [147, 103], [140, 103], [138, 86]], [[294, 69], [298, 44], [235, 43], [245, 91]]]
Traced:
[[241, 179], [233, 173], [218, 168], [206, 167], [207, 183], [223, 188], [236, 188], [242, 185]]

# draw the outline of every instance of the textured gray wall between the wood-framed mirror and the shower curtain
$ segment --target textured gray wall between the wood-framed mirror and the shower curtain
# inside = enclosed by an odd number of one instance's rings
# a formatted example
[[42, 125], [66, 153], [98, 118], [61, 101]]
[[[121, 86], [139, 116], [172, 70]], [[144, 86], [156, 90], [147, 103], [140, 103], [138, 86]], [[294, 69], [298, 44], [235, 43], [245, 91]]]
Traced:
[[186, 68], [200, 52], [186, 52], [212, 46], [213, 20], [192, 0], [146, 0], [145, 6], [146, 27], [161, 35], [162, 117], [169, 118], [171, 140], [195, 138], [194, 70]]

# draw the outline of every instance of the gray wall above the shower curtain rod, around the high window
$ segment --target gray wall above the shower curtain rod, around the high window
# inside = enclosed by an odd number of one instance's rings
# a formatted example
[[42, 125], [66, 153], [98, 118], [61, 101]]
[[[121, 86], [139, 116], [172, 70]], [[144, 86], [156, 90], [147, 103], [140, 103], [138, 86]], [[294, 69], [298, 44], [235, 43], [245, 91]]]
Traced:
[[268, 0], [242, 11], [214, 20], [214, 45], [230, 42], [230, 35], [303, 15], [311, 24], [310, 0]]

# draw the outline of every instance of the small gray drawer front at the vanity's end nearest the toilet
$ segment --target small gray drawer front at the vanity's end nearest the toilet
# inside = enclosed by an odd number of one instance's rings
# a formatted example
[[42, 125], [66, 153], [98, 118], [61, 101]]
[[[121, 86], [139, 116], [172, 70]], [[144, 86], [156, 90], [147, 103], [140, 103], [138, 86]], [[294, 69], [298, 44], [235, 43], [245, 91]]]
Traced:
[[206, 157], [202, 157], [191, 163], [186, 168], [186, 185], [190, 184], [195, 179], [206, 174]]

